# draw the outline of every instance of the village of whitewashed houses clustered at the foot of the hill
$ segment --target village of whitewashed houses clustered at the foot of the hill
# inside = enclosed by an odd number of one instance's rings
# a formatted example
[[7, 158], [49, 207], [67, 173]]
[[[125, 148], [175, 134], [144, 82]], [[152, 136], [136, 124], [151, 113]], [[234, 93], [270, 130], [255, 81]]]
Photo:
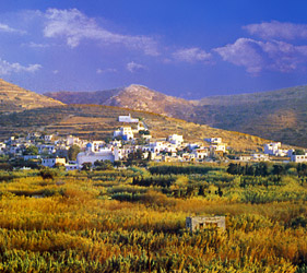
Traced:
[[[185, 142], [176, 133], [164, 139], [153, 139], [144, 121], [128, 116], [119, 116], [125, 124], [114, 131], [110, 141], [82, 140], [73, 135], [59, 136], [42, 132], [29, 132], [26, 136], [11, 136], [0, 142], [0, 155], [10, 161], [20, 161], [20, 167], [42, 165], [64, 166], [67, 170], [93, 167], [97, 162], [108, 162], [125, 166], [129, 158], [154, 162], [307, 162], [303, 150], [285, 150], [281, 142], [267, 143], [263, 152], [237, 153], [222, 138], [213, 135], [202, 143]], [[138, 134], [139, 138], [134, 135]], [[78, 151], [69, 156], [69, 151]], [[23, 165], [23, 166], [21, 166]]]

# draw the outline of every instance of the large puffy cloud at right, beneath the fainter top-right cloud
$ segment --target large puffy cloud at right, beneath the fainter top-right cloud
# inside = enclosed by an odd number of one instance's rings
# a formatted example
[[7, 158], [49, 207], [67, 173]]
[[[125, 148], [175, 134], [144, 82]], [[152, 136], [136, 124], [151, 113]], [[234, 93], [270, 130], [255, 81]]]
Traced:
[[294, 46], [284, 41], [259, 41], [239, 38], [234, 44], [213, 49], [224, 61], [245, 67], [258, 74], [262, 70], [290, 72], [307, 62], [307, 46]]

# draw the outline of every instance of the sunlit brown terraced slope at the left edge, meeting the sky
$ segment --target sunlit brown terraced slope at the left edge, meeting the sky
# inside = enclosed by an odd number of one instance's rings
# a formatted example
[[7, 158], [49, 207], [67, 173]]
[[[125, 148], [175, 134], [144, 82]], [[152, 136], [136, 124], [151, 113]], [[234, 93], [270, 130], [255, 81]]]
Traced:
[[63, 103], [0, 79], [0, 112], [22, 111], [24, 109], [57, 105], [63, 105]]

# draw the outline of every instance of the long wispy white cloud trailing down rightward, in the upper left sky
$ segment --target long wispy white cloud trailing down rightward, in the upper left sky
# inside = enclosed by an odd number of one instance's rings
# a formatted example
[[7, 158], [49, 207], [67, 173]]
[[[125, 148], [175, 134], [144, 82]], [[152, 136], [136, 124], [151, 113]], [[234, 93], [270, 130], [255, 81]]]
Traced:
[[97, 25], [76, 9], [49, 9], [46, 13], [45, 37], [63, 37], [71, 48], [79, 46], [83, 39], [94, 39], [106, 44], [120, 44], [128, 48], [142, 50], [145, 55], [157, 56], [157, 43], [147, 36], [116, 34]]

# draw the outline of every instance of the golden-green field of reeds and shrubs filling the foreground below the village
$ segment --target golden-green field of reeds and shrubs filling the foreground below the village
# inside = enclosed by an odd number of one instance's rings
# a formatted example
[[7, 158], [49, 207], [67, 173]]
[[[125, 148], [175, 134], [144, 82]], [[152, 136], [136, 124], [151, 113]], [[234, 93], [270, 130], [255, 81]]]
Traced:
[[0, 171], [1, 272], [306, 272], [305, 165], [95, 165]]

